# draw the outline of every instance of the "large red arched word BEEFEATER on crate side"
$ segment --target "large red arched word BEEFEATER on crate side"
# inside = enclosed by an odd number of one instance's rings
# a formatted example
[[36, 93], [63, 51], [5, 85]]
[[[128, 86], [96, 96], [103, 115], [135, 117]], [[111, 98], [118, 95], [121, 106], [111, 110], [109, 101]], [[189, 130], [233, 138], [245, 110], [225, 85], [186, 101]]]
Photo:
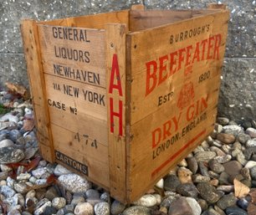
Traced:
[[222, 35], [216, 34], [197, 44], [188, 45], [175, 52], [160, 56], [157, 60], [146, 62], [146, 95], [150, 95], [157, 86], [164, 83], [184, 66], [208, 59], [219, 59]]

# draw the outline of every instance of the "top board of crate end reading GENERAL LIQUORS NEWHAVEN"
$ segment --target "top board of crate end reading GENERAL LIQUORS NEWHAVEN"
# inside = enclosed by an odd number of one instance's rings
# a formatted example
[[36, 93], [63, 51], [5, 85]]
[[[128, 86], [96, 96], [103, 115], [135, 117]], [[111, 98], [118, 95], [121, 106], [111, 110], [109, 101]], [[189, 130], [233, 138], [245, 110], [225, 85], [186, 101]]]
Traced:
[[38, 25], [44, 73], [105, 88], [105, 31]]

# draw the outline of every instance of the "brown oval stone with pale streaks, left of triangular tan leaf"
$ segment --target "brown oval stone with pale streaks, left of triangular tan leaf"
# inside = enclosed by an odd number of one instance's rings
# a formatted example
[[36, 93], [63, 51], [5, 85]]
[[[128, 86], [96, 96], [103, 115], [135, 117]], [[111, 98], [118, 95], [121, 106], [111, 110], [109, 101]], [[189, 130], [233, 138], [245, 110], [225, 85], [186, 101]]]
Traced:
[[216, 188], [207, 182], [198, 183], [197, 190], [199, 191], [200, 196], [210, 204], [218, 202], [221, 197], [221, 194], [216, 190]]

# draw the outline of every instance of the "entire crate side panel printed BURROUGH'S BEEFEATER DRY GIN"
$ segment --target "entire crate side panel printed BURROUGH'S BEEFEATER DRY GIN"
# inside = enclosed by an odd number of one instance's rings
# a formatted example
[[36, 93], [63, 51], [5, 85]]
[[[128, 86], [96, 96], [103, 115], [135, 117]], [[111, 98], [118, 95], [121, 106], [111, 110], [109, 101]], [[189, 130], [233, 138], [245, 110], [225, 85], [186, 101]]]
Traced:
[[222, 12], [131, 33], [131, 198], [213, 130], [227, 22]]

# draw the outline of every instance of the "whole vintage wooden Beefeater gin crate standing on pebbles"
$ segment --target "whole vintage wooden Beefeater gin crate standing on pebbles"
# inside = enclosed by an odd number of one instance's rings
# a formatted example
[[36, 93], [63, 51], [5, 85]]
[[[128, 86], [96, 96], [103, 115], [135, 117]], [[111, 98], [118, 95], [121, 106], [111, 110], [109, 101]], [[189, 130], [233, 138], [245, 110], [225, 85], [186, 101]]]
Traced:
[[44, 159], [132, 202], [214, 126], [228, 10], [23, 20]]

